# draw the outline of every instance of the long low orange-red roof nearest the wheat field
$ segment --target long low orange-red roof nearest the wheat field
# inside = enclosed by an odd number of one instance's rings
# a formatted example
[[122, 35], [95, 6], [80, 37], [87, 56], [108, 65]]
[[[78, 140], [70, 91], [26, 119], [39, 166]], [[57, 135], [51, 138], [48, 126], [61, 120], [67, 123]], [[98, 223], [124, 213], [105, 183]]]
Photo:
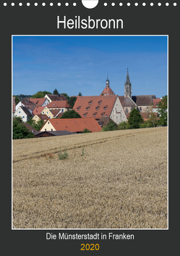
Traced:
[[[56, 131], [71, 131], [74, 133], [82, 132], [85, 128], [92, 131], [92, 133], [101, 131], [100, 125], [95, 120], [95, 118], [66, 118], [66, 119], [49, 119], [46, 121], [50, 122], [53, 125], [53, 128]], [[43, 125], [43, 127], [46, 125]], [[43, 128], [42, 127], [42, 128]], [[41, 128], [41, 129], [42, 129]]]

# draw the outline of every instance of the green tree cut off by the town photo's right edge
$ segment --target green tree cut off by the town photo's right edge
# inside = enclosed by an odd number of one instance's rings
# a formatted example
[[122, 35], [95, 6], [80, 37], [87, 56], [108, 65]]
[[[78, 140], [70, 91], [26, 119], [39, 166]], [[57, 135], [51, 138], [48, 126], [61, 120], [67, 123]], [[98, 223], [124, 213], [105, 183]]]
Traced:
[[158, 116], [160, 118], [159, 125], [168, 125], [168, 96], [163, 96], [163, 99], [158, 104]]

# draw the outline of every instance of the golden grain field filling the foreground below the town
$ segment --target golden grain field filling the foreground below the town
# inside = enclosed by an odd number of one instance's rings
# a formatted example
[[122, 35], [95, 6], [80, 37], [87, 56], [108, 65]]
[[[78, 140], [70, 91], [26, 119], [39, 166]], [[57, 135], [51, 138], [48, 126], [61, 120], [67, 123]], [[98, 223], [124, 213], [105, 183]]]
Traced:
[[14, 140], [12, 153], [12, 228], [168, 228], [166, 127]]

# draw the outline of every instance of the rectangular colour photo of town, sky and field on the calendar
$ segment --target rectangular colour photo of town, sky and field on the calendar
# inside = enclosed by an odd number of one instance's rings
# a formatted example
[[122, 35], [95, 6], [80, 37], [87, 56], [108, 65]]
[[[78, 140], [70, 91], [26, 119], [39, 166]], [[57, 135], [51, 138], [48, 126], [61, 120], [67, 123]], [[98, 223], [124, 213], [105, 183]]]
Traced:
[[12, 36], [12, 229], [168, 229], [168, 36]]

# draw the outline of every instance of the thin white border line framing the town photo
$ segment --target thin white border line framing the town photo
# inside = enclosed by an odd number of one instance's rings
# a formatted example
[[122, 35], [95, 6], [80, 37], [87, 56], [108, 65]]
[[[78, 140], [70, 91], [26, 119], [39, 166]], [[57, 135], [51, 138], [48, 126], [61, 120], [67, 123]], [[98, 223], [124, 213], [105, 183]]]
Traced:
[[[13, 87], [13, 36], [166, 36], [167, 37], [167, 95], [168, 95], [168, 35], [12, 35], [12, 87]], [[13, 95], [13, 94], [12, 94]], [[169, 102], [169, 100], [168, 100]], [[169, 120], [169, 119], [168, 119]], [[168, 134], [167, 134], [168, 137]], [[168, 138], [167, 138], [168, 140]], [[13, 140], [12, 140], [13, 141]], [[13, 146], [13, 145], [12, 145]], [[168, 156], [167, 156], [168, 158]], [[12, 158], [13, 159], [13, 158]], [[13, 165], [13, 163], [12, 163]], [[168, 175], [168, 171], [167, 171]], [[13, 181], [12, 181], [13, 184]], [[168, 186], [168, 182], [167, 182]], [[168, 189], [168, 188], [167, 188]], [[167, 206], [168, 207], [168, 206]], [[13, 205], [12, 205], [13, 208]], [[13, 213], [12, 213], [13, 215]], [[12, 228], [12, 230], [63, 230], [63, 231], [68, 231], [68, 230], [95, 230], [95, 231], [101, 231], [101, 230], [119, 230], [119, 231], [129, 231], [129, 230], [168, 230], [168, 228]], [[64, 239], [63, 239], [64, 240]], [[76, 240], [76, 239], [69, 239], [69, 240]]]

